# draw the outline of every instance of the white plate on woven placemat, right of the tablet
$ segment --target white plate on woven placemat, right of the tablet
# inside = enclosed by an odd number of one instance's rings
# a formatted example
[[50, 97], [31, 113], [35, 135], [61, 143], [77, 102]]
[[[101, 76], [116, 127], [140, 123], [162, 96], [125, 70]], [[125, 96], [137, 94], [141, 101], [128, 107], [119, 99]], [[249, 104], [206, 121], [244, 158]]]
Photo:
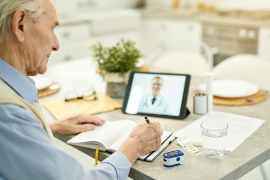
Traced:
[[214, 96], [239, 98], [256, 94], [258, 91], [257, 85], [242, 80], [220, 79], [213, 81]]

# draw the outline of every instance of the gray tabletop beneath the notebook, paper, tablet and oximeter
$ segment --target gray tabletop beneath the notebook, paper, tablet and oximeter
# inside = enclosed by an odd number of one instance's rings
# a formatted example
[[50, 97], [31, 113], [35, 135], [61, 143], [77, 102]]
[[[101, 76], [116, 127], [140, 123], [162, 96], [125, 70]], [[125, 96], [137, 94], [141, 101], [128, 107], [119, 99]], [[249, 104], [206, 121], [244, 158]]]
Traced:
[[[188, 100], [188, 108], [192, 110], [192, 92], [203, 81], [203, 78], [193, 77], [191, 91]], [[230, 112], [266, 120], [263, 125], [251, 136], [249, 136], [235, 151], [225, 152], [221, 159], [208, 158], [203, 155], [202, 148], [195, 154], [185, 154], [185, 164], [172, 168], [163, 166], [163, 157], [159, 155], [152, 163], [137, 160], [130, 171], [133, 179], [238, 179], [252, 169], [264, 163], [270, 158], [270, 99], [269, 97], [258, 104], [245, 106], [220, 106], [214, 105], [215, 111]], [[103, 119], [119, 120], [131, 119], [137, 123], [143, 123], [142, 116], [125, 115], [120, 110], [97, 115]], [[166, 131], [175, 132], [193, 122], [199, 115], [191, 113], [184, 120], [164, 119], [152, 117], [151, 120], [161, 123]], [[70, 137], [60, 136], [61, 140], [68, 140]], [[76, 147], [80, 151], [95, 156], [94, 150]], [[172, 151], [180, 149], [174, 140], [165, 150]], [[110, 153], [100, 153], [100, 161], [109, 156]]]

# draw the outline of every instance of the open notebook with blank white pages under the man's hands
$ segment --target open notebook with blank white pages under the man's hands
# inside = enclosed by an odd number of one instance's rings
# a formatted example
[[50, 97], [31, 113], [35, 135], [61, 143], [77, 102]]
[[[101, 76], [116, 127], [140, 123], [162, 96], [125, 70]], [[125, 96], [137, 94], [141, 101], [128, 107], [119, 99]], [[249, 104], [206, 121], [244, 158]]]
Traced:
[[[67, 141], [69, 145], [81, 146], [90, 149], [99, 147], [100, 151], [115, 152], [137, 124], [132, 120], [106, 121], [96, 126], [94, 131], [82, 132]], [[164, 131], [161, 137], [161, 147], [155, 152], [139, 157], [140, 160], [153, 161], [175, 138], [172, 132]]]

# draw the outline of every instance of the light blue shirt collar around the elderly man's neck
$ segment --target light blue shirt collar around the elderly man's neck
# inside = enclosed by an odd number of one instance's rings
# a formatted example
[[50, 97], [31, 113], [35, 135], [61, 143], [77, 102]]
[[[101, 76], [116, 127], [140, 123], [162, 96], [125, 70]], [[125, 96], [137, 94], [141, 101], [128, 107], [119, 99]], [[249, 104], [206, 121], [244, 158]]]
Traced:
[[33, 104], [34, 101], [38, 102], [39, 89], [34, 86], [34, 81], [1, 59], [0, 78], [30, 104]]

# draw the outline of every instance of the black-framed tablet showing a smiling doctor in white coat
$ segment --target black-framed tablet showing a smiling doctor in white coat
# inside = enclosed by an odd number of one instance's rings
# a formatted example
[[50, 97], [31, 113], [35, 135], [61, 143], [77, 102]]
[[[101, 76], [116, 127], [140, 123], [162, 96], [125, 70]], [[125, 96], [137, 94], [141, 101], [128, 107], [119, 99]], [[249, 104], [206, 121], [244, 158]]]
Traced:
[[183, 119], [190, 75], [142, 73], [130, 74], [122, 112]]

